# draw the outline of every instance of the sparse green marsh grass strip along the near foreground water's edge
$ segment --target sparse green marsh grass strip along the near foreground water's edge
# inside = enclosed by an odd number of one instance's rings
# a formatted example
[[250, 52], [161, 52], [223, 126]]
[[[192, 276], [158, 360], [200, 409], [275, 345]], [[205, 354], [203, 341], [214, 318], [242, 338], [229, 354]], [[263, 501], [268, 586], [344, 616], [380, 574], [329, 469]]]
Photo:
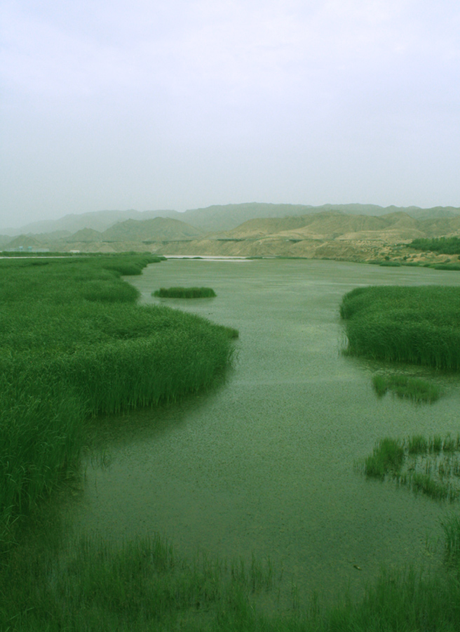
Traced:
[[[21, 632], [454, 632], [459, 629], [459, 519], [445, 520], [446, 572], [381, 572], [364, 597], [278, 605], [269, 561], [185, 561], [156, 535], [115, 545], [80, 539], [65, 555], [15, 556], [0, 578], [0, 628]], [[8, 577], [6, 577], [8, 575]], [[264, 604], [269, 604], [269, 613]]]

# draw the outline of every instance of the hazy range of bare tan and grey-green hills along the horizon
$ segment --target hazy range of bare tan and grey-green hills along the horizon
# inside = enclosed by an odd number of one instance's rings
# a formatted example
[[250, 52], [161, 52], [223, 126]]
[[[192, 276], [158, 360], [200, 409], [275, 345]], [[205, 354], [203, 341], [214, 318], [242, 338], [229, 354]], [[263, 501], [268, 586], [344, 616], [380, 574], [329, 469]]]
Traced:
[[[160, 215], [161, 214], [161, 215]], [[127, 217], [128, 216], [128, 217]], [[27, 230], [33, 228], [34, 230]], [[314, 256], [362, 260], [417, 237], [460, 235], [460, 208], [372, 204], [229, 204], [177, 211], [98, 211], [0, 235], [0, 248], [39, 251]]]

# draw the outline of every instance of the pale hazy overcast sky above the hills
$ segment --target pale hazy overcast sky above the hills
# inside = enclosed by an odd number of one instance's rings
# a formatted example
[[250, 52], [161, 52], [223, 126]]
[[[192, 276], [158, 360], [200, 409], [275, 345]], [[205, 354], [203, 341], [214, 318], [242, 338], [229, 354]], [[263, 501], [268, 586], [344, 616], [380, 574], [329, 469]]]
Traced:
[[457, 0], [2, 0], [0, 228], [460, 206]]

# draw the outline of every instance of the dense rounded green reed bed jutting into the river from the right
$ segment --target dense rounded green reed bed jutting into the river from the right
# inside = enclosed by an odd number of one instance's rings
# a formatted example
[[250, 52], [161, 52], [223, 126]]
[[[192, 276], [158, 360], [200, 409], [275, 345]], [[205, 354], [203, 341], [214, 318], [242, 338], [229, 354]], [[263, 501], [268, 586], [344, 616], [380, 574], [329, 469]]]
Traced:
[[347, 353], [460, 369], [460, 287], [365, 287], [346, 294]]

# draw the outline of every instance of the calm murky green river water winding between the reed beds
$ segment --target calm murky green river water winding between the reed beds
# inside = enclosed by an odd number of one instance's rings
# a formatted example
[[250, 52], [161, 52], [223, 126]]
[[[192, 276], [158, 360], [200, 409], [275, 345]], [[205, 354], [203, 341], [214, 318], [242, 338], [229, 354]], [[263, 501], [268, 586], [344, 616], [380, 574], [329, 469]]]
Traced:
[[[340, 354], [341, 297], [369, 284], [460, 284], [456, 272], [333, 261], [169, 260], [129, 281], [163, 302], [236, 327], [234, 366], [210, 393], [107, 421], [71, 509], [75, 531], [160, 532], [180, 553], [271, 558], [308, 593], [359, 591], [381, 565], [436, 560], [449, 506], [353, 468], [381, 437], [460, 431], [456, 376], [402, 367], [442, 386], [435, 404], [377, 399], [376, 371]], [[156, 299], [208, 286], [212, 299]], [[437, 562], [436, 562], [437, 563]], [[356, 569], [356, 566], [361, 570]]]

